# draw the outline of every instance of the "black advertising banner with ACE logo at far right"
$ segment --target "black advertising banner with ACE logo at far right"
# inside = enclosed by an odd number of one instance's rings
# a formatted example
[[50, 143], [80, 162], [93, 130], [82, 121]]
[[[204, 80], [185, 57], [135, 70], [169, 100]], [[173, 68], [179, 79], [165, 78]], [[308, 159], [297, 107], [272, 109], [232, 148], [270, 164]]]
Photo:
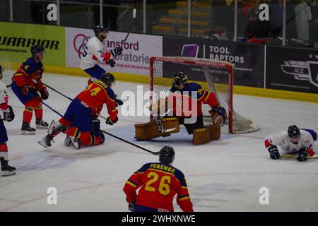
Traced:
[[266, 88], [318, 93], [318, 51], [267, 47]]

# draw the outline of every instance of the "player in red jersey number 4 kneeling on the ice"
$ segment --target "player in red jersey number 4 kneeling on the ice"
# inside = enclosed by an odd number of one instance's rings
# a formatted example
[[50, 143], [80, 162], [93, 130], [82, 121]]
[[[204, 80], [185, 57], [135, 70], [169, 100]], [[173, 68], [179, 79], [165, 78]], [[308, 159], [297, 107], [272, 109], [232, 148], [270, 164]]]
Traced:
[[[40, 145], [45, 148], [51, 146], [54, 136], [60, 132], [66, 132], [72, 123], [75, 123], [78, 128], [76, 135], [76, 148], [81, 145], [98, 145], [102, 142], [103, 136], [91, 133], [92, 114], [100, 111], [100, 106], [107, 105], [109, 117], [107, 117], [106, 124], [113, 125], [118, 121], [118, 110], [115, 100], [112, 84], [114, 83], [114, 76], [111, 73], [102, 73], [100, 80], [91, 83], [86, 90], [79, 93], [67, 108], [64, 117], [59, 119], [59, 123], [52, 121], [49, 126], [48, 134]], [[68, 131], [71, 133], [71, 131]]]

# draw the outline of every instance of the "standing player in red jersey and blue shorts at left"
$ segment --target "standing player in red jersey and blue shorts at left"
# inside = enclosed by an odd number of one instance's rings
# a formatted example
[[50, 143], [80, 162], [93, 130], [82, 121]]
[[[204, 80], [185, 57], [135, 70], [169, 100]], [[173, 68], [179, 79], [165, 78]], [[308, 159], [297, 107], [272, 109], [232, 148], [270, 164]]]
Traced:
[[[42, 100], [47, 100], [49, 93], [42, 84], [42, 74], [44, 71], [42, 59], [44, 49], [39, 45], [31, 47], [32, 57], [23, 62], [14, 73], [11, 89], [16, 94], [20, 102], [25, 106], [23, 112], [22, 134], [35, 134], [35, 129], [30, 126], [35, 112], [35, 125], [37, 129], [47, 129], [49, 124], [43, 121]], [[40, 95], [37, 93], [39, 92]]]

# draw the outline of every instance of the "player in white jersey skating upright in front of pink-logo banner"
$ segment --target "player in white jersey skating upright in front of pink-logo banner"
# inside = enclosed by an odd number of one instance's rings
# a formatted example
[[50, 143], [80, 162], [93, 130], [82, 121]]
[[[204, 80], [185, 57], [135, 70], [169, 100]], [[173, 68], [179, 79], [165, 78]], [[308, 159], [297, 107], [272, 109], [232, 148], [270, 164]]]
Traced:
[[123, 51], [122, 47], [107, 51], [105, 41], [108, 30], [103, 25], [97, 25], [93, 30], [95, 37], [88, 40], [81, 55], [81, 69], [90, 75], [88, 83], [100, 79], [100, 75], [105, 72], [98, 64], [105, 62], [114, 67], [114, 58], [122, 54]]

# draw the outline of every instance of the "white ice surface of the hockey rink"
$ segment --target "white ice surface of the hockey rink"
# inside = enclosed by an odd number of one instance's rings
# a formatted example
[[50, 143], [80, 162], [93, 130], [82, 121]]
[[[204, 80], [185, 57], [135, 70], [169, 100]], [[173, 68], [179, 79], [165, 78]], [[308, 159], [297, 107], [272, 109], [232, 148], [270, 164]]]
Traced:
[[[12, 73], [5, 72], [6, 83]], [[42, 81], [73, 98], [86, 87], [87, 79], [46, 73]], [[117, 81], [114, 91], [118, 97], [125, 90], [136, 93], [136, 85]], [[143, 88], [148, 90], [148, 85]], [[10, 88], [8, 95], [16, 114], [14, 121], [5, 123], [9, 159], [17, 170], [14, 176], [0, 177], [0, 211], [129, 211], [122, 191], [126, 179], [146, 162], [157, 162], [158, 155], [107, 135], [103, 145], [76, 150], [64, 145], [61, 134], [45, 149], [37, 141], [46, 130], [37, 129], [34, 136], [20, 135], [23, 105]], [[46, 103], [61, 114], [69, 102], [49, 90]], [[45, 121], [59, 119], [43, 108]], [[196, 146], [183, 126], [180, 133], [167, 138], [135, 141], [134, 124], [146, 122], [148, 117], [122, 117], [119, 113], [117, 124], [109, 126], [102, 120], [101, 129], [148, 150], [158, 151], [163, 145], [175, 148], [173, 166], [187, 179], [194, 211], [318, 211], [318, 160], [271, 160], [264, 148], [266, 136], [291, 124], [317, 129], [318, 105], [234, 95], [234, 109], [261, 129], [241, 135], [222, 133], [220, 140]], [[107, 117], [105, 108], [103, 115]], [[57, 189], [56, 205], [47, 203], [50, 187]], [[259, 190], [263, 187], [269, 189], [269, 204], [261, 205]], [[174, 206], [181, 211], [175, 202]]]

